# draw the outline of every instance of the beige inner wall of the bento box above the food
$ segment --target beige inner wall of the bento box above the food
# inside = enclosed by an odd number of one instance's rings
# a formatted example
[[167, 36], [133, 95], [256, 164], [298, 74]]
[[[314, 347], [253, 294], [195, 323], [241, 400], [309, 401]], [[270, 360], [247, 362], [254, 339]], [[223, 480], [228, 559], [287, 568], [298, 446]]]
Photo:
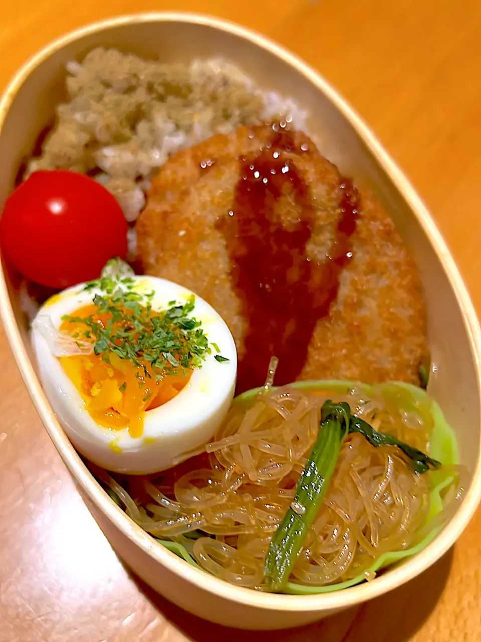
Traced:
[[[273, 53], [253, 46], [235, 33], [207, 24], [176, 21], [120, 24], [101, 35], [90, 33], [70, 42], [41, 62], [13, 97], [0, 133], [0, 203], [3, 204], [12, 191], [15, 176], [24, 158], [31, 153], [38, 134], [53, 120], [56, 103], [64, 98], [65, 64], [81, 59], [99, 44], [149, 58], [160, 56], [167, 62], [185, 61], [194, 56], [227, 55], [258, 85], [293, 96], [307, 108], [310, 134], [321, 153], [337, 164], [343, 175], [371, 187], [380, 196], [416, 259], [425, 291], [429, 345], [435, 367], [428, 392], [441, 405], [457, 433], [460, 460], [468, 467], [471, 480], [480, 448], [480, 392], [469, 327], [474, 315], [470, 306], [463, 309], [463, 297], [457, 297], [457, 273], [446, 272], [451, 270], [451, 259], [443, 256], [443, 246], [436, 247], [437, 231], [428, 218], [423, 218], [423, 208], [419, 209], [416, 195], [411, 193], [409, 184], [404, 184], [403, 177], [395, 180], [407, 199], [400, 195], [382, 168], [382, 162], [373, 157], [369, 146], [333, 102], [323, 96], [307, 76]], [[411, 198], [418, 216], [407, 202]], [[6, 278], [22, 339], [31, 354], [17, 290], [9, 275]]]

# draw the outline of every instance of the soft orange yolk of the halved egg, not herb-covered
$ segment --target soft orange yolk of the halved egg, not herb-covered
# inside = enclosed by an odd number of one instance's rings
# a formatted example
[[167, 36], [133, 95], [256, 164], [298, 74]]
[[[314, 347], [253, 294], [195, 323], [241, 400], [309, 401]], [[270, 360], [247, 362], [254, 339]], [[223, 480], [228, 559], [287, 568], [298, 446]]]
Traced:
[[[94, 317], [97, 323], [105, 323], [105, 318], [97, 314], [93, 304], [76, 310], [72, 317]], [[86, 329], [80, 320], [65, 320], [60, 326], [60, 330], [74, 337], [81, 336], [83, 340]], [[178, 369], [169, 374], [169, 369], [165, 369], [162, 378], [158, 379], [153, 376], [151, 365], [141, 358], [139, 367], [115, 352], [109, 352], [108, 357], [109, 363], [106, 363], [101, 354], [92, 352], [60, 357], [59, 361], [97, 424], [111, 430], [127, 428], [131, 437], [141, 437], [146, 411], [176, 397], [189, 383], [192, 370]]]

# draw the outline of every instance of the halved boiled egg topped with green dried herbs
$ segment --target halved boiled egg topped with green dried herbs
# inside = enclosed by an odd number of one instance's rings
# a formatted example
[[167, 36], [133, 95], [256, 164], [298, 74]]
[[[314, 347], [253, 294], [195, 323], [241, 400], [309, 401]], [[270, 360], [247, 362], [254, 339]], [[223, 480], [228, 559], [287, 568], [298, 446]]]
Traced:
[[156, 277], [105, 277], [40, 308], [42, 386], [72, 444], [107, 470], [149, 474], [212, 438], [235, 388], [232, 335], [213, 308]]

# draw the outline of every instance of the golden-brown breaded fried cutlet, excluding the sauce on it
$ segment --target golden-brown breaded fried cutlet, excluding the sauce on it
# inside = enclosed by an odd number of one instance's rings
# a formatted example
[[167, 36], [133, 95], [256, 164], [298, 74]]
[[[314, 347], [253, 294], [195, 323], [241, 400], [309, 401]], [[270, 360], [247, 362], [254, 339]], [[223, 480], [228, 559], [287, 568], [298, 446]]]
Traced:
[[[290, 132], [289, 139], [283, 160], [286, 167], [295, 168], [310, 193], [307, 261], [323, 266], [332, 260], [339, 240], [344, 179], [305, 134]], [[240, 127], [177, 153], [153, 181], [137, 222], [144, 272], [178, 282], [207, 300], [230, 327], [241, 362], [248, 358], [244, 353], [249, 318], [233, 278], [232, 248], [223, 221], [238, 207], [243, 168], [272, 140], [269, 126]], [[286, 183], [272, 203], [276, 224], [296, 230], [306, 207], [298, 190]], [[416, 267], [391, 219], [371, 195], [360, 192], [358, 210], [350, 261], [341, 270], [328, 313], [312, 329], [297, 378], [419, 383], [419, 363], [427, 347]], [[266, 252], [267, 245], [268, 240]], [[273, 313], [271, 327], [275, 322]]]

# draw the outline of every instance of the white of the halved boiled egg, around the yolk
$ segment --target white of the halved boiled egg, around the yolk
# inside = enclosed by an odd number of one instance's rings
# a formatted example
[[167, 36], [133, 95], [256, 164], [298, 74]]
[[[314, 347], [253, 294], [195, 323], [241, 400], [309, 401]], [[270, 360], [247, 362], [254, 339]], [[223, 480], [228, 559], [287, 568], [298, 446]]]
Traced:
[[[135, 291], [155, 291], [152, 307], [156, 310], [168, 308], [172, 300], [183, 304], [192, 295], [183, 286], [165, 279], [133, 278]], [[47, 315], [58, 329], [63, 315], [72, 314], [101, 293], [84, 288], [85, 284], [80, 284], [55, 295], [40, 308], [38, 315]], [[190, 451], [213, 437], [234, 394], [237, 352], [227, 325], [207, 302], [196, 296], [191, 315], [201, 322], [208, 341], [216, 343], [229, 361], [216, 361], [214, 349], [212, 354], [206, 354], [201, 369], [194, 370], [187, 386], [174, 399], [145, 413], [144, 431], [137, 438], [131, 437], [127, 429], [103, 428], [92, 419], [55, 356], [51, 342], [33, 322], [32, 343], [42, 386], [72, 444], [94, 464], [119, 473], [156, 473], [187, 458]], [[46, 317], [38, 316], [37, 320], [40, 318]]]

